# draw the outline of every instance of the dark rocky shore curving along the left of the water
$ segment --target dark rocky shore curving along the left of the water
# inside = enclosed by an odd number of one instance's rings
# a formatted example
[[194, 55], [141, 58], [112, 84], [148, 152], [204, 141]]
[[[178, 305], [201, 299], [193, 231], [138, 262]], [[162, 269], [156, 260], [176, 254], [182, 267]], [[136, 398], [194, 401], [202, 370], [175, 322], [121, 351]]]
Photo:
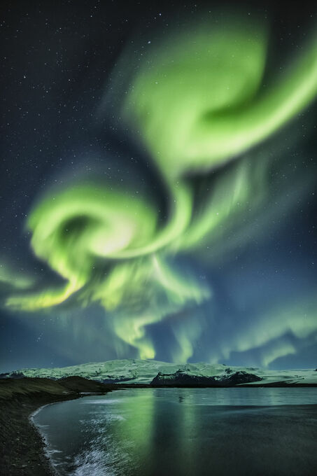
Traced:
[[52, 476], [45, 442], [31, 421], [43, 405], [80, 398], [81, 393], [106, 393], [111, 386], [68, 377], [0, 380], [0, 473], [3, 476]]

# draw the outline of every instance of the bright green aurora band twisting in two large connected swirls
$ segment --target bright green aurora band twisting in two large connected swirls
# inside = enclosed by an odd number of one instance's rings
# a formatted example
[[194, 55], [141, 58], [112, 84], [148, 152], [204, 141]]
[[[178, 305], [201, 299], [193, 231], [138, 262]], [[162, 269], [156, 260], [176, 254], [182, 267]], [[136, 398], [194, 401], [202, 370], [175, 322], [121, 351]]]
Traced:
[[[166, 223], [160, 223], [154, 202], [120, 187], [79, 183], [50, 193], [31, 212], [27, 227], [36, 256], [66, 284], [13, 293], [6, 300], [10, 309], [24, 311], [71, 296], [83, 305], [99, 302], [113, 314], [116, 335], [139, 349], [141, 358], [155, 356], [146, 325], [211, 296], [208, 286], [171, 269], [169, 258], [216, 233], [237, 203], [248, 202], [255, 180], [241, 162], [225, 183], [206, 193], [195, 216], [188, 176], [204, 174], [265, 140], [317, 92], [315, 40], [288, 71], [263, 87], [267, 31], [257, 23], [199, 27], [151, 55], [130, 78], [120, 114], [132, 132], [140, 132], [169, 191]], [[262, 177], [264, 169], [258, 173]]]

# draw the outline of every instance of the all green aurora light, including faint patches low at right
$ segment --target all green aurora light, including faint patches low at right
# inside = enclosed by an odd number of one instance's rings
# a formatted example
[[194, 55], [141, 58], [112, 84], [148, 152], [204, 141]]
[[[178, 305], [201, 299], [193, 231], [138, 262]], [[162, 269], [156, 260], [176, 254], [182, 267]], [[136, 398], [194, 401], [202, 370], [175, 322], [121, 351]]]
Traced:
[[[274, 202], [270, 174], [280, 158], [272, 143], [317, 94], [316, 36], [282, 71], [267, 69], [269, 38], [262, 22], [228, 16], [220, 25], [204, 22], [162, 37], [137, 67], [127, 46], [111, 73], [115, 94], [105, 91], [100, 110], [108, 117], [112, 102], [114, 120], [146, 151], [163, 184], [166, 210], [154, 195], [135, 193], [120, 181], [73, 180], [46, 191], [27, 218], [27, 230], [34, 255], [61, 283], [40, 290], [31, 282], [17, 286], [6, 308], [37, 312], [70, 302], [78, 308], [98, 304], [119, 342], [141, 358], [154, 358], [151, 325], [212, 302], [210, 283], [190, 265], [184, 272], [178, 257], [190, 254], [212, 264], [231, 257], [241, 243], [248, 246], [259, 232], [259, 214], [265, 222], [261, 207]], [[280, 190], [286, 209], [293, 206], [294, 188], [286, 183]], [[276, 332], [267, 340], [288, 327], [298, 336], [315, 331], [316, 299], [307, 302], [301, 309], [309, 315], [309, 330], [295, 324], [290, 312], [283, 325], [272, 325]], [[195, 318], [173, 328], [181, 349], [174, 358], [187, 361], [202, 328]], [[222, 355], [255, 340], [251, 326], [247, 337], [238, 332], [226, 342]]]

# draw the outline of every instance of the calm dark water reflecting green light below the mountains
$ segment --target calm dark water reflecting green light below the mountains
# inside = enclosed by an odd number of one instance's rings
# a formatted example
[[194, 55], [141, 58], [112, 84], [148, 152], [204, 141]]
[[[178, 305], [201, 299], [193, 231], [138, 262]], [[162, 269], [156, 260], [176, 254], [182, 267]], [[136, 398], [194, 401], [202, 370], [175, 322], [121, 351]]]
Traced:
[[140, 388], [34, 422], [60, 475], [302, 476], [317, 474], [314, 405], [317, 388]]

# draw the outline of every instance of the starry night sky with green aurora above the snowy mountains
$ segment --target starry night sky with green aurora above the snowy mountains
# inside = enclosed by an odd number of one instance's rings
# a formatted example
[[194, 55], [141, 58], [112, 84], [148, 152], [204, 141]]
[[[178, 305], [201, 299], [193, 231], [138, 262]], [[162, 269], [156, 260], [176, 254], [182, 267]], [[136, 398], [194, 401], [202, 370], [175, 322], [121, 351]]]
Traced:
[[3, 2], [0, 371], [316, 367], [316, 13]]

